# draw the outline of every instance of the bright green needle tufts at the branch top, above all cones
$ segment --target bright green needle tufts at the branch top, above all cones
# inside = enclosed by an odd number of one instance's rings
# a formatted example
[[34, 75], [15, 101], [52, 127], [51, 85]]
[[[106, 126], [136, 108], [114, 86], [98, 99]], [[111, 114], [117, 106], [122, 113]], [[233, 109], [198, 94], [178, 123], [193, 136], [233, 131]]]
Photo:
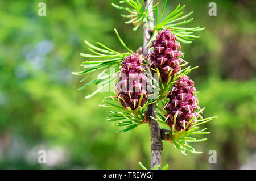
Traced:
[[[144, 3], [144, 1], [142, 2]], [[133, 23], [135, 25], [135, 27], [133, 28], [134, 31], [137, 30], [138, 27], [143, 22], [146, 22], [147, 27], [149, 27], [148, 21], [155, 24], [154, 32], [152, 34], [150, 41], [147, 44], [148, 46], [150, 46], [158, 30], [162, 30], [163, 27], [173, 29], [174, 31], [172, 31], [172, 33], [177, 36], [177, 40], [185, 44], [192, 43], [193, 40], [200, 37], [200, 36], [195, 36], [194, 32], [205, 29], [200, 27], [193, 27], [193, 28], [181, 27], [193, 21], [193, 18], [189, 20], [185, 20], [193, 14], [193, 11], [189, 12], [187, 15], [182, 16], [184, 14], [183, 9], [185, 8], [185, 5], [180, 7], [180, 4], [179, 4], [174, 11], [172, 11], [169, 15], [167, 15], [166, 18], [163, 18], [164, 10], [166, 9], [166, 5], [167, 5], [167, 0], [164, 0], [161, 11], [159, 11], [159, 2], [156, 3], [154, 6], [152, 6], [151, 11], [148, 11], [148, 6], [143, 7], [138, 0], [137, 1], [125, 0], [125, 1], [120, 1], [120, 3], [127, 3], [127, 5], [129, 5], [130, 7], [118, 6], [118, 5], [115, 5], [114, 3], [112, 3], [112, 5], [117, 9], [126, 10], [130, 12], [130, 15], [122, 15], [122, 14], [121, 15], [125, 18], [131, 18], [131, 20], [125, 23]], [[148, 5], [150, 5], [150, 3]], [[155, 19], [150, 18], [150, 16], [148, 16], [148, 14], [152, 11], [155, 12]], [[149, 27], [149, 28], [152, 28], [152, 27]]]

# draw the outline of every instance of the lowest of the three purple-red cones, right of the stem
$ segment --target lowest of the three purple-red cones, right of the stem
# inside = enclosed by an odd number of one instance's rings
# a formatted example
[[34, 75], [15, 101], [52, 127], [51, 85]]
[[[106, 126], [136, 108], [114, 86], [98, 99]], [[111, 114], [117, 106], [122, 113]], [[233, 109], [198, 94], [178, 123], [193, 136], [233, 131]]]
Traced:
[[[194, 87], [194, 82], [186, 75], [180, 77], [176, 85], [168, 92], [167, 98], [170, 98], [170, 101], [163, 109], [168, 112], [166, 119], [171, 128], [174, 125], [176, 131], [185, 128], [188, 130], [196, 120], [196, 117], [200, 116], [199, 113], [195, 112], [196, 108], [200, 110], [198, 106], [199, 100], [195, 94], [196, 88]], [[176, 116], [176, 123], [174, 123], [174, 116]], [[194, 120], [187, 125], [192, 118]]]

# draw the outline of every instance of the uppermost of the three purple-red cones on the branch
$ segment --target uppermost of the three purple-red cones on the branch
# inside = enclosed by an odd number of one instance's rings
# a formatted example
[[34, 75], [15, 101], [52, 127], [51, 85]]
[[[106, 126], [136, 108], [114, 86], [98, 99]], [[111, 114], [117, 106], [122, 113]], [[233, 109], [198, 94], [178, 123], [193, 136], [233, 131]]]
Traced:
[[170, 76], [180, 71], [180, 63], [184, 62], [179, 58], [183, 53], [177, 50], [181, 48], [180, 43], [176, 41], [177, 36], [171, 31], [163, 27], [150, 46], [154, 47], [154, 50], [148, 54], [148, 58], [152, 61], [150, 68], [153, 71], [159, 70], [162, 82], [167, 82]]

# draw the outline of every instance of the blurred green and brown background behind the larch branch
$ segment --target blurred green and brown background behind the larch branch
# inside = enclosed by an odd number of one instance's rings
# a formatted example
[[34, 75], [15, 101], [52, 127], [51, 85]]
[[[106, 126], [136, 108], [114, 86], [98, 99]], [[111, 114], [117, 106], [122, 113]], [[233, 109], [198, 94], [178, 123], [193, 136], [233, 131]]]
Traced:
[[[39, 2], [46, 16], [38, 16]], [[194, 11], [189, 26], [206, 27], [181, 48], [191, 66], [200, 66], [190, 77], [203, 116], [219, 118], [205, 125], [208, 140], [194, 144], [203, 154], [185, 156], [164, 141], [162, 164], [256, 169], [255, 1], [214, 1], [217, 16], [208, 15], [209, 2], [170, 0], [166, 12], [185, 4], [185, 12]], [[84, 99], [96, 86], [77, 91], [82, 77], [71, 74], [82, 70], [85, 39], [123, 52], [117, 28], [128, 47], [142, 45], [142, 27], [132, 31], [121, 13], [100, 0], [0, 2], [0, 169], [139, 169], [138, 161], [149, 167], [148, 125], [116, 132], [105, 121], [107, 109], [98, 107], [106, 94]], [[47, 164], [38, 163], [40, 149]], [[217, 151], [216, 164], [208, 162], [209, 150]]]

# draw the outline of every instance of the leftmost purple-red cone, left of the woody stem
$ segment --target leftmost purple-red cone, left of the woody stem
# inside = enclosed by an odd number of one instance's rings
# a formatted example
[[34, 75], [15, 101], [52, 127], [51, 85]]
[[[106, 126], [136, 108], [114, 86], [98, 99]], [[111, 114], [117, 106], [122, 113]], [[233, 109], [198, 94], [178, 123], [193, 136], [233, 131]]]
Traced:
[[130, 54], [123, 58], [119, 81], [115, 85], [119, 102], [124, 108], [136, 110], [147, 102], [147, 77], [143, 73], [142, 58], [139, 54]]

